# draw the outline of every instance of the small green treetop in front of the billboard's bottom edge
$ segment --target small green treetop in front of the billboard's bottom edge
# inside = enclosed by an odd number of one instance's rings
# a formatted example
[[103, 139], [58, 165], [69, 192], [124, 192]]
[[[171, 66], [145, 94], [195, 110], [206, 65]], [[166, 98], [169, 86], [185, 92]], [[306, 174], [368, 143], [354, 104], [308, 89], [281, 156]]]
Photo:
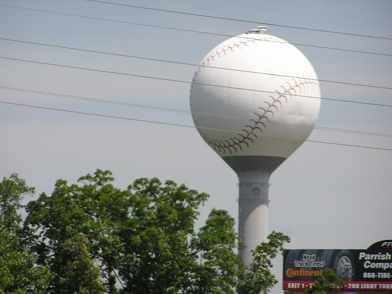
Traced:
[[316, 279], [312, 288], [305, 290], [305, 294], [335, 294], [345, 286], [342, 279], [332, 269], [323, 270], [323, 276]]

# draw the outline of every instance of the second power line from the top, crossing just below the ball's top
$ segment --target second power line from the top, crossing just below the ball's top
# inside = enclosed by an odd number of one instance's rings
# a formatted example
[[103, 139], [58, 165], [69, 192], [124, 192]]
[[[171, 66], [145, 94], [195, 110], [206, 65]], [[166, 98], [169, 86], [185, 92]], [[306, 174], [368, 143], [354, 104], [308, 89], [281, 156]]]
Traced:
[[[90, 18], [90, 19], [95, 19], [95, 20], [106, 20], [106, 21], [110, 21], [110, 22], [119, 22], [119, 23], [123, 23], [123, 24], [143, 25], [143, 26], [147, 26], [147, 27], [156, 27], [156, 28], [160, 28], [160, 29], [171, 29], [171, 30], [191, 32], [191, 33], [201, 33], [201, 34], [211, 34], [211, 35], [216, 35], [216, 36], [235, 37], [235, 36], [226, 35], [226, 34], [216, 34], [216, 33], [208, 33], [208, 32], [193, 31], [193, 30], [186, 30], [186, 29], [177, 29], [177, 28], [173, 28], [173, 27], [162, 27], [162, 26], [159, 26], [159, 25], [138, 24], [138, 23], [134, 23], [134, 22], [125, 22], [125, 21], [120, 21], [120, 20], [111, 20], [111, 19], [108, 19], [108, 18], [98, 18], [98, 17], [92, 17], [92, 16], [74, 15], [74, 14], [70, 14], [70, 13], [62, 13], [62, 12], [55, 12], [55, 11], [48, 11], [48, 10], [41, 10], [41, 9], [33, 9], [33, 8], [26, 8], [26, 7], [12, 6], [12, 5], [0, 4], [0, 6], [20, 8], [20, 9], [27, 9], [27, 10], [47, 12], [47, 13], [55, 13], [55, 14], [60, 14], [60, 15], [77, 16], [77, 17]], [[238, 37], [238, 38], [248, 38], [248, 37]], [[274, 40], [266, 40], [266, 41], [267, 42], [276, 42], [276, 43], [287, 44], [286, 42], [280, 42], [280, 41], [274, 41]], [[323, 46], [306, 45], [306, 44], [298, 44], [298, 43], [290, 43], [290, 44], [298, 45], [298, 46], [321, 48], [321, 49], [332, 49], [332, 50], [340, 50], [340, 51], [347, 51], [347, 52], [356, 52], [356, 53], [392, 56], [392, 54], [375, 53], [375, 52], [368, 52], [368, 51], [350, 50], [350, 49], [333, 48], [333, 47], [323, 47]]]

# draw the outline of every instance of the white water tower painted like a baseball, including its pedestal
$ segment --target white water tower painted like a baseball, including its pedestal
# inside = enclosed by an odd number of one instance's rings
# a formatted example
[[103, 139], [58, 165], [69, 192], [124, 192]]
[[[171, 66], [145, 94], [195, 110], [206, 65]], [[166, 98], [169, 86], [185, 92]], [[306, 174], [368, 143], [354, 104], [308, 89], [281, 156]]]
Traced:
[[310, 62], [264, 31], [257, 27], [212, 49], [191, 86], [191, 111], [201, 137], [238, 175], [245, 265], [269, 234], [269, 177], [308, 138], [320, 108]]

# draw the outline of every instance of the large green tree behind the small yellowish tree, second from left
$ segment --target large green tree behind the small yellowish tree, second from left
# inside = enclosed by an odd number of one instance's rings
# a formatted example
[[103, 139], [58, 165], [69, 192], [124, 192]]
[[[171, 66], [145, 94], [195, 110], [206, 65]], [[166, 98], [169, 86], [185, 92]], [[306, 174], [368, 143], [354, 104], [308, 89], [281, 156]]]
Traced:
[[110, 171], [99, 169], [94, 176], [81, 177], [82, 186], [67, 185], [60, 179], [51, 196], [42, 193], [38, 200], [28, 203], [25, 227], [38, 236], [38, 262], [50, 265], [54, 273], [51, 293], [62, 291], [63, 243], [79, 233], [86, 236], [89, 252], [101, 264], [108, 293], [116, 293], [113, 272], [118, 242], [113, 234], [116, 218], [111, 214], [117, 214], [127, 192], [114, 188], [110, 184], [113, 180]]

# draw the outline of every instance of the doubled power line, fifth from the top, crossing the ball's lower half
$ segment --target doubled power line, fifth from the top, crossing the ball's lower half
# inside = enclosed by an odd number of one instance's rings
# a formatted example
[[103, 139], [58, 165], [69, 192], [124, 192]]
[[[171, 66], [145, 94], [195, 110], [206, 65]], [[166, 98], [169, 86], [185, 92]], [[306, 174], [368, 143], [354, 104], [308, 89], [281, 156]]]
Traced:
[[[79, 100], [87, 100], [87, 101], [93, 101], [93, 102], [126, 105], [126, 106], [132, 106], [132, 107], [142, 107], [142, 108], [148, 108], [148, 109], [156, 109], [156, 110], [162, 110], [162, 111], [173, 111], [173, 112], [186, 113], [186, 114], [193, 113], [193, 114], [200, 114], [200, 115], [205, 115], [205, 116], [215, 116], [215, 117], [220, 117], [220, 118], [232, 118], [232, 119], [237, 119], [237, 120], [249, 121], [249, 118], [241, 118], [241, 117], [237, 117], [237, 116], [228, 116], [228, 115], [220, 115], [220, 114], [212, 114], [212, 113], [201, 113], [201, 112], [191, 112], [191, 111], [181, 110], [181, 109], [172, 109], [172, 108], [157, 107], [157, 106], [151, 106], [151, 105], [140, 105], [140, 104], [134, 104], [134, 103], [127, 103], [127, 102], [116, 102], [116, 101], [111, 101], [111, 100], [102, 100], [102, 99], [97, 99], [97, 98], [87, 98], [87, 97], [72, 96], [72, 95], [65, 95], [65, 94], [58, 94], [58, 93], [48, 93], [48, 92], [42, 92], [42, 91], [34, 91], [34, 90], [27, 90], [27, 89], [20, 89], [20, 88], [11, 88], [11, 87], [4, 87], [4, 86], [0, 86], [0, 88], [6, 89], [6, 90], [27, 92], [27, 93], [44, 94], [44, 95], [79, 99]], [[361, 135], [392, 137], [392, 135], [389, 135], [389, 134], [377, 134], [377, 133], [372, 133], [372, 132], [352, 131], [352, 130], [327, 128], [327, 127], [316, 127], [316, 126], [310, 127], [309, 125], [299, 125], [299, 124], [294, 124], [294, 123], [281, 123], [281, 122], [273, 122], [273, 121], [268, 121], [265, 123], [289, 125], [289, 126], [294, 126], [294, 127], [305, 127], [305, 128], [319, 129], [319, 130], [325, 130], [325, 131], [347, 132], [347, 133], [361, 134]]]

